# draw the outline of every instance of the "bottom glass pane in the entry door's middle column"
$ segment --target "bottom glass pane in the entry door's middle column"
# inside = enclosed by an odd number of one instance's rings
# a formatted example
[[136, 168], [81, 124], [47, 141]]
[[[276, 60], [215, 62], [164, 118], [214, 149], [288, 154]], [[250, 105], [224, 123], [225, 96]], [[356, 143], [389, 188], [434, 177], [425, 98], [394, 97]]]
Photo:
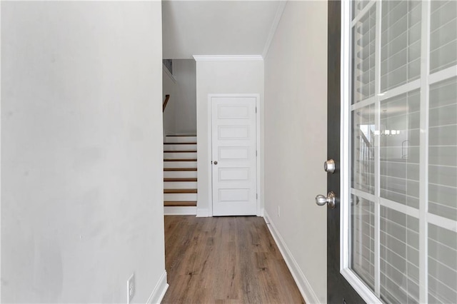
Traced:
[[381, 299], [418, 303], [419, 221], [381, 206]]

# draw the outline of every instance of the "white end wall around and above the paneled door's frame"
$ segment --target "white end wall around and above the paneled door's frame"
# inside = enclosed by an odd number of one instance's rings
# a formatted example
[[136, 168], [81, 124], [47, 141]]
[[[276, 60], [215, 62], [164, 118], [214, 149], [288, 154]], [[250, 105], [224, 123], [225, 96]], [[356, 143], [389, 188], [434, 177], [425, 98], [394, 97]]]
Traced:
[[[198, 202], [197, 214], [208, 214], [211, 203], [211, 155], [209, 148], [209, 132], [211, 119], [209, 116], [208, 95], [211, 93], [258, 93], [261, 96], [258, 111], [263, 109], [263, 61], [199, 61], [196, 62], [197, 87], [197, 174]], [[261, 116], [262, 117], [262, 116]], [[263, 118], [261, 119], [261, 128]], [[261, 133], [261, 144], [263, 136]], [[261, 159], [262, 161], [262, 159]], [[261, 183], [263, 171], [261, 172]]]

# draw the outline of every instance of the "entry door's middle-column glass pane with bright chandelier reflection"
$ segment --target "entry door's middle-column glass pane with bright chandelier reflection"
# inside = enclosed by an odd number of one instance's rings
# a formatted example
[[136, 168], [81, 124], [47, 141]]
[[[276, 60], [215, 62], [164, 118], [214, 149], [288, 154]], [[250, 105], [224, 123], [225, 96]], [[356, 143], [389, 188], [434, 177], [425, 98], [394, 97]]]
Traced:
[[381, 101], [381, 197], [419, 208], [419, 91]]

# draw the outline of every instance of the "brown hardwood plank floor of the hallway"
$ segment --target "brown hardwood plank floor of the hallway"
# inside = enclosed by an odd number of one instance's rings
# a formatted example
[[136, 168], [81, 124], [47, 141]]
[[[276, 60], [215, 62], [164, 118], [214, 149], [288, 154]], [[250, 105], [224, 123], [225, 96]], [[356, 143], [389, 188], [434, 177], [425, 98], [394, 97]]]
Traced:
[[165, 216], [162, 303], [304, 303], [263, 218]]

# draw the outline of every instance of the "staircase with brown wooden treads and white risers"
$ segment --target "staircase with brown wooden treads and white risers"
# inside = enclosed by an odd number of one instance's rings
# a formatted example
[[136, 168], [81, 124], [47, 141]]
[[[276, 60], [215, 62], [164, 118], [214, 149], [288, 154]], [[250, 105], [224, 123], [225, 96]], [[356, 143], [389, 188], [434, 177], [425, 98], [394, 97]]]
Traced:
[[196, 136], [166, 136], [164, 207], [166, 214], [196, 214]]

